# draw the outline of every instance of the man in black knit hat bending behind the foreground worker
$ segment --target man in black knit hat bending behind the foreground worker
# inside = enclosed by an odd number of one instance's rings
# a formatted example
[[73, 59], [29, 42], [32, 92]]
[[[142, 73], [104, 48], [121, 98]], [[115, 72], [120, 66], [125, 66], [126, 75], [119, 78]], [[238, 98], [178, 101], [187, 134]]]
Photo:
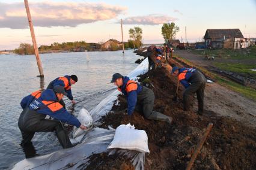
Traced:
[[[76, 102], [72, 95], [71, 86], [72, 86], [72, 84], [75, 84], [76, 82], [78, 82], [78, 77], [76, 75], [65, 75], [64, 77], [55, 78], [55, 80], [50, 82], [47, 89], [53, 89], [53, 87], [55, 87], [55, 86], [64, 87], [65, 92], [67, 93], [67, 97], [70, 99], [72, 104], [75, 105]], [[66, 108], [66, 104], [63, 101], [63, 99], [61, 99], [59, 101], [59, 103], [62, 105], [62, 107]]]

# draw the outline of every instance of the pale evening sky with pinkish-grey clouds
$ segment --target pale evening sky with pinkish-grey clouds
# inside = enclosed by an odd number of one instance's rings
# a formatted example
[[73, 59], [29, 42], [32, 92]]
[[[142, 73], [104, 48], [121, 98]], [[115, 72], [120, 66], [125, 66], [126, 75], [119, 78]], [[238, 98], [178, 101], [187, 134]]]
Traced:
[[[256, 38], [256, 0], [29, 0], [38, 46], [53, 42], [124, 41], [129, 29], [142, 28], [142, 41], [162, 43], [163, 23], [174, 22], [180, 28], [176, 38], [202, 41], [206, 29], [239, 28], [244, 37]], [[24, 1], [0, 0], [0, 50], [32, 44]]]

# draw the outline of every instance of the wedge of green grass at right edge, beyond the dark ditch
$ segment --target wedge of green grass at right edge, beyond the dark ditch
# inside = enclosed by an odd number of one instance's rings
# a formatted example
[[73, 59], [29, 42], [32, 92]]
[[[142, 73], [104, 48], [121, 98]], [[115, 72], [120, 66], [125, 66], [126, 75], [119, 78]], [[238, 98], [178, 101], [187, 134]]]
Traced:
[[256, 68], [256, 64], [243, 64], [243, 63], [213, 63], [216, 67], [225, 70], [236, 72], [246, 77], [251, 77], [256, 79], [256, 71], [252, 71], [251, 69]]

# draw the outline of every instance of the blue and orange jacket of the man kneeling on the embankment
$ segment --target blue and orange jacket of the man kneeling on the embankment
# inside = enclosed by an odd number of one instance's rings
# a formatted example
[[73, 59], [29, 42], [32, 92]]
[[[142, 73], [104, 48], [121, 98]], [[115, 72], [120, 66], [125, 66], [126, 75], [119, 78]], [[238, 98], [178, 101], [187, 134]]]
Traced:
[[141, 92], [142, 86], [136, 81], [130, 80], [129, 77], [123, 77], [123, 86], [118, 87], [124, 95], [127, 97], [127, 113], [131, 115], [137, 104], [137, 95]]

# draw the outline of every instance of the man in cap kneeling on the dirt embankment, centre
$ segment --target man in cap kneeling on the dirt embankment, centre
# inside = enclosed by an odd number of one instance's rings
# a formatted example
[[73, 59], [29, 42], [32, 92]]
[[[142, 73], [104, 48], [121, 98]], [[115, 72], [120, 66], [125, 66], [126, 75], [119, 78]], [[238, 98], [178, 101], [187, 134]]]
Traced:
[[118, 90], [127, 97], [127, 113], [132, 115], [136, 110], [142, 112], [146, 119], [159, 120], [170, 123], [172, 118], [165, 116], [162, 113], [153, 111], [154, 107], [154, 92], [145, 86], [141, 86], [136, 81], [130, 80], [129, 77], [115, 73], [111, 83], [115, 83]]

